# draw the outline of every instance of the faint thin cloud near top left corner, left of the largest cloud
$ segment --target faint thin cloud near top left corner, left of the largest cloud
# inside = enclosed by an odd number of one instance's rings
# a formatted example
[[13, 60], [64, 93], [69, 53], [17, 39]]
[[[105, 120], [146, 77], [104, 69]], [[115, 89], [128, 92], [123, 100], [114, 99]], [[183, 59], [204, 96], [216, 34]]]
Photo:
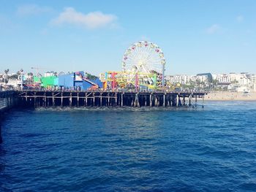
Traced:
[[20, 16], [39, 15], [45, 12], [53, 11], [50, 7], [39, 7], [37, 4], [25, 4], [17, 9], [17, 14]]

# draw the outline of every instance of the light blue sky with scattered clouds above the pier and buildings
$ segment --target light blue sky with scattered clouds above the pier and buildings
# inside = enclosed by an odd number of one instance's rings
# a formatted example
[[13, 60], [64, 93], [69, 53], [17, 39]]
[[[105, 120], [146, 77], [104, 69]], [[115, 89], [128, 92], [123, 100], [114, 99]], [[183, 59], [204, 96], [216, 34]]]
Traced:
[[121, 71], [124, 52], [161, 47], [166, 74], [256, 73], [255, 0], [0, 1], [0, 73]]

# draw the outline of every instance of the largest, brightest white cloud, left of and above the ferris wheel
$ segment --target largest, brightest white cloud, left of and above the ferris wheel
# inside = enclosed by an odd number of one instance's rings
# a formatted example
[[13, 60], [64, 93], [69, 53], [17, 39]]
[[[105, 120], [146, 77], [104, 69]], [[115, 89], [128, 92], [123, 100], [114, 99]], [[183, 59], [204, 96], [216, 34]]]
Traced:
[[50, 23], [55, 26], [70, 24], [92, 29], [113, 26], [115, 20], [115, 15], [104, 14], [102, 12], [89, 12], [88, 14], [83, 14], [82, 12], [77, 12], [72, 7], [67, 7], [64, 9], [64, 12], [59, 14], [58, 18], [51, 20]]

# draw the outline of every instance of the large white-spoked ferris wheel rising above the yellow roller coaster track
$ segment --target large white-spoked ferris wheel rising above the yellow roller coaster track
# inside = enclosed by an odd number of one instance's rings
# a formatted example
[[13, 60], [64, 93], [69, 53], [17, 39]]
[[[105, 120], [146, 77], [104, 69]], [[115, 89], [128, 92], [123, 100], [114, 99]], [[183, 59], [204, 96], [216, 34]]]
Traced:
[[123, 72], [164, 74], [164, 53], [152, 42], [135, 42], [124, 53], [122, 69]]

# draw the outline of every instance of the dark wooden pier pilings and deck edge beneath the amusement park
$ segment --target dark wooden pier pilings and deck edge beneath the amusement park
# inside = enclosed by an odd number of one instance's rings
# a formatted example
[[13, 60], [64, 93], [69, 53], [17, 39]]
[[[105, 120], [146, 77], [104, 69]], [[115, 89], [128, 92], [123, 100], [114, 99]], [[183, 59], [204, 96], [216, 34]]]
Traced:
[[19, 107], [196, 106], [206, 93], [125, 91], [17, 91]]

